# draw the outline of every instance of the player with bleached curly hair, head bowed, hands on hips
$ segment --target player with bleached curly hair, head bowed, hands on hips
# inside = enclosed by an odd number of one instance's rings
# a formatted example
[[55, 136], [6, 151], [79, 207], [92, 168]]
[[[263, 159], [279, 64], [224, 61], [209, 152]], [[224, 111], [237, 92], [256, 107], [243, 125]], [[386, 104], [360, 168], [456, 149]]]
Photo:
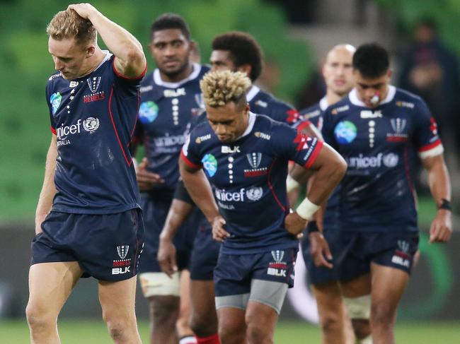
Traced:
[[[272, 343], [294, 283], [297, 234], [338, 184], [345, 162], [318, 139], [250, 112], [246, 73], [214, 71], [200, 85], [207, 121], [185, 143], [180, 174], [222, 242], [214, 271], [219, 338]], [[316, 175], [294, 213], [286, 193], [289, 160]]]

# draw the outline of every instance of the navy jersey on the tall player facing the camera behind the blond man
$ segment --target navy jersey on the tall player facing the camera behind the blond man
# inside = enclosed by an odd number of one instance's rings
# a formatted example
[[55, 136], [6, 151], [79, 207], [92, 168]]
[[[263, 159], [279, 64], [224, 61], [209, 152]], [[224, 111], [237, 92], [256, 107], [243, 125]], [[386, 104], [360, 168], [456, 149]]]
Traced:
[[154, 190], [172, 191], [178, 182], [180, 149], [193, 122], [205, 111], [200, 80], [207, 71], [207, 66], [193, 64], [188, 78], [167, 83], [155, 69], [141, 83], [135, 141], [144, 144], [148, 170], [165, 180]]

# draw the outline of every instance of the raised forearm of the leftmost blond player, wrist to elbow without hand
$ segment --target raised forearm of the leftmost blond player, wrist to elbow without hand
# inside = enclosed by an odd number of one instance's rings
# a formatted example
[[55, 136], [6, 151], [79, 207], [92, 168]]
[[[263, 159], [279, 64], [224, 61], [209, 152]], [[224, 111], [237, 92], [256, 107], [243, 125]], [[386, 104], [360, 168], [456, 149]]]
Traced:
[[[102, 13], [94, 9], [91, 11], [89, 20], [110, 52], [119, 59], [122, 71], [125, 73], [135, 72], [134, 76], [139, 76], [146, 66], [146, 59], [142, 50], [142, 45], [130, 32], [122, 28], [117, 23], [105, 17]], [[137, 75], [135, 75], [137, 73]]]

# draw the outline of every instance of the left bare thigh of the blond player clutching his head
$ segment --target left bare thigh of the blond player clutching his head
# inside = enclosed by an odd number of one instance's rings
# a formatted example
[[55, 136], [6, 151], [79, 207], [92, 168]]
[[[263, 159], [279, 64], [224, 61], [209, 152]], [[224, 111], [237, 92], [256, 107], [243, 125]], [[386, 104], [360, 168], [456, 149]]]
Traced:
[[82, 273], [76, 261], [30, 266], [28, 314], [57, 316]]

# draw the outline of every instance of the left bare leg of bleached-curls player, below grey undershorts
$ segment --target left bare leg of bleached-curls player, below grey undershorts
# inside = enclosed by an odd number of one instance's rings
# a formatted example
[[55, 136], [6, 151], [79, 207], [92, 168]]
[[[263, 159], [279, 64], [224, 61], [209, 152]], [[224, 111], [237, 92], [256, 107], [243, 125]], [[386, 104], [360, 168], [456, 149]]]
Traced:
[[219, 338], [222, 344], [247, 344], [245, 310], [233, 307], [217, 309]]

